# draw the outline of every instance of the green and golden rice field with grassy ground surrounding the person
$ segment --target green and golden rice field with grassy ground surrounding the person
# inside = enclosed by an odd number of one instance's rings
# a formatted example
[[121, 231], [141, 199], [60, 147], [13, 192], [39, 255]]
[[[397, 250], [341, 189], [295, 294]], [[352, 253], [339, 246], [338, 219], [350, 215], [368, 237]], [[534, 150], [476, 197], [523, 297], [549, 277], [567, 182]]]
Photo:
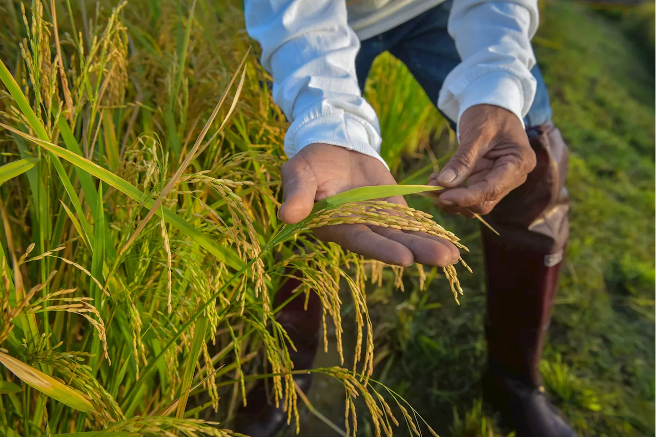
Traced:
[[[476, 389], [478, 222], [366, 189], [283, 226], [287, 123], [240, 7], [0, 0], [0, 436], [231, 436], [237, 406], [265, 377], [287, 406], [285, 435], [506, 435]], [[582, 436], [647, 436], [649, 73], [599, 17], [560, 3], [546, 12], [535, 43], [573, 150], [573, 215], [545, 385]], [[445, 162], [453, 132], [391, 56], [376, 60], [365, 94], [403, 184], [382, 190], [424, 191], [407, 184]], [[312, 238], [346, 221], [423, 229], [471, 253], [457, 274], [424, 271]], [[308, 396], [294, 389], [272, 307], [289, 271], [302, 279], [296, 294], [323, 306], [328, 353]]]

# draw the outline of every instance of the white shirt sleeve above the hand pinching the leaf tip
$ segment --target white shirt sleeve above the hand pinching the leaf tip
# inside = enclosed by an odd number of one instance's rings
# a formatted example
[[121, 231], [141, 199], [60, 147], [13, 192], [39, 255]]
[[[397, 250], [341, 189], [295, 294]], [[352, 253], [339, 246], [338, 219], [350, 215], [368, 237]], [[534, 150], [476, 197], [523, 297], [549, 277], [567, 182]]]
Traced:
[[473, 105], [497, 105], [523, 123], [535, 98], [538, 25], [537, 0], [454, 0], [448, 28], [462, 62], [445, 79], [438, 107], [460, 122]]

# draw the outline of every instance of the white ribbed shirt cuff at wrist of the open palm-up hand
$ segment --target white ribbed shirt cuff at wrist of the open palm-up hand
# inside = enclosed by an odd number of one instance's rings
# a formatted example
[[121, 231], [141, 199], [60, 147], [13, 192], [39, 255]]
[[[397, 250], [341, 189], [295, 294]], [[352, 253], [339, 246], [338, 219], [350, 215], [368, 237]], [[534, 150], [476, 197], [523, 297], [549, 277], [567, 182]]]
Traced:
[[380, 157], [380, 142], [380, 134], [371, 124], [340, 110], [296, 119], [285, 134], [285, 153], [291, 158], [306, 145], [324, 143], [376, 158], [389, 169]]

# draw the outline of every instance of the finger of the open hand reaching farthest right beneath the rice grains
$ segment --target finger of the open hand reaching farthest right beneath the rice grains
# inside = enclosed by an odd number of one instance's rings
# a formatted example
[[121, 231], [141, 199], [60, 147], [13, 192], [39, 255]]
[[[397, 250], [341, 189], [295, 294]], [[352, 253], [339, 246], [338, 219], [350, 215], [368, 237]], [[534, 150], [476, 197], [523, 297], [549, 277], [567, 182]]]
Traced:
[[[383, 237], [403, 244], [403, 246], [412, 252], [416, 263], [437, 265], [439, 267], [446, 267], [453, 263], [453, 252], [447, 246], [447, 244], [453, 246], [451, 242], [441, 240], [440, 238], [424, 238], [424, 236], [432, 237], [432, 235], [426, 233], [405, 233], [398, 229], [388, 227], [374, 226], [371, 230]], [[453, 248], [456, 249], [455, 246]]]

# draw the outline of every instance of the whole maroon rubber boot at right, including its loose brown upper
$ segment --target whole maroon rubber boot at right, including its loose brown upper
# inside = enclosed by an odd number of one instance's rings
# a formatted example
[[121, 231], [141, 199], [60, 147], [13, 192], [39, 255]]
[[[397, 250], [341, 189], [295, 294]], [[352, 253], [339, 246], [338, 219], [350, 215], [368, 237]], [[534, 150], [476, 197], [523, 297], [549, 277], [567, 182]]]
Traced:
[[569, 235], [567, 147], [552, 123], [527, 130], [537, 166], [483, 229], [489, 368], [483, 395], [518, 437], [575, 437], [544, 394], [539, 363]]

